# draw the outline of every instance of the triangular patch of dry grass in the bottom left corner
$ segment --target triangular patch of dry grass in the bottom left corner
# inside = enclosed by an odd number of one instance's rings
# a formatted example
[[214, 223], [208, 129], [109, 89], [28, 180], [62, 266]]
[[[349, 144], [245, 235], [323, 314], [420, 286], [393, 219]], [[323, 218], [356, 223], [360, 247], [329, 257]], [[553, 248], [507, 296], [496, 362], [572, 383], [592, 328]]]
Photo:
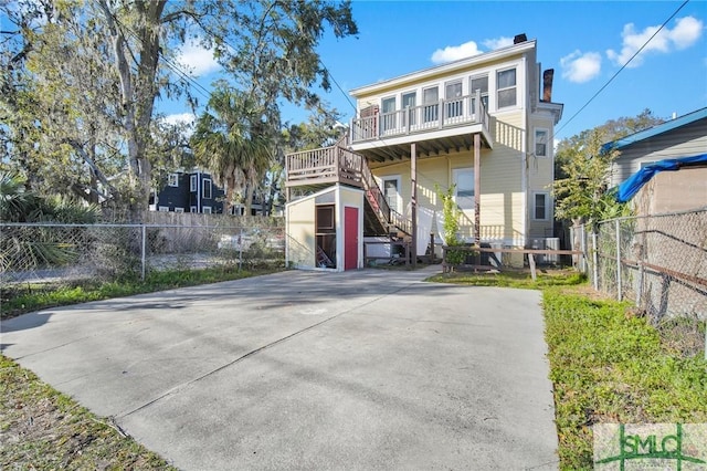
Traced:
[[0, 469], [175, 469], [2, 355], [0, 397]]

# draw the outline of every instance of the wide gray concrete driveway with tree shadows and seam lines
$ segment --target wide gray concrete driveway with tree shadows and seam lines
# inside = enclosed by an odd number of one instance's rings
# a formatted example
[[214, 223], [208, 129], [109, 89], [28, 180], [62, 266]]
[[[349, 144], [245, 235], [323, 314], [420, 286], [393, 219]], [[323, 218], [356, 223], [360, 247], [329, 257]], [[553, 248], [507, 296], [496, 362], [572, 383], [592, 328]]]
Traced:
[[180, 469], [557, 469], [539, 292], [430, 270], [53, 308], [2, 349]]

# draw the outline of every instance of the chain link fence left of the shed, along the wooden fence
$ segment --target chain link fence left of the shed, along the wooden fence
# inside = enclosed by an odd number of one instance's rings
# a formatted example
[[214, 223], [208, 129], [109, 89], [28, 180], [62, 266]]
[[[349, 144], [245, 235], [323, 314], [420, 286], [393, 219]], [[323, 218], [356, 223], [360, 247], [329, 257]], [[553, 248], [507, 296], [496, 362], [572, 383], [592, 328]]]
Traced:
[[150, 271], [285, 263], [282, 224], [0, 223], [0, 281], [18, 284], [145, 279]]

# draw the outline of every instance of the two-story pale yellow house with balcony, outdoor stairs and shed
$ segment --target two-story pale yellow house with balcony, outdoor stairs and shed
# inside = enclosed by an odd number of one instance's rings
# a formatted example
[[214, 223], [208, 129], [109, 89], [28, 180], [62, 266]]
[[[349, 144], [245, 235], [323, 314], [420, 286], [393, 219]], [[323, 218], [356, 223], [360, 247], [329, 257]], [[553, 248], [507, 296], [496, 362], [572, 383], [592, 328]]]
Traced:
[[[391, 231], [423, 254], [454, 188], [458, 237], [527, 247], [552, 237], [552, 71], [525, 34], [484, 54], [361, 86], [348, 138], [287, 156], [287, 258], [361, 268], [366, 237]], [[544, 87], [542, 93], [540, 87]]]

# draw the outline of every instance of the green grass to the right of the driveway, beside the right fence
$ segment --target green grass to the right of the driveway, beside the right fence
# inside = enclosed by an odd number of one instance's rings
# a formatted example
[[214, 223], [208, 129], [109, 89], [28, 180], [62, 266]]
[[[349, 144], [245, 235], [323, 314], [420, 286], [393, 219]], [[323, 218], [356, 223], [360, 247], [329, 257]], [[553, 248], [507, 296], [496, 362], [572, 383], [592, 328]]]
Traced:
[[536, 281], [527, 272], [428, 281], [544, 291], [560, 469], [593, 469], [594, 423], [707, 422], [707, 362], [685, 342], [700, 342], [705, 323], [673, 320], [656, 328], [572, 272], [539, 273]]

